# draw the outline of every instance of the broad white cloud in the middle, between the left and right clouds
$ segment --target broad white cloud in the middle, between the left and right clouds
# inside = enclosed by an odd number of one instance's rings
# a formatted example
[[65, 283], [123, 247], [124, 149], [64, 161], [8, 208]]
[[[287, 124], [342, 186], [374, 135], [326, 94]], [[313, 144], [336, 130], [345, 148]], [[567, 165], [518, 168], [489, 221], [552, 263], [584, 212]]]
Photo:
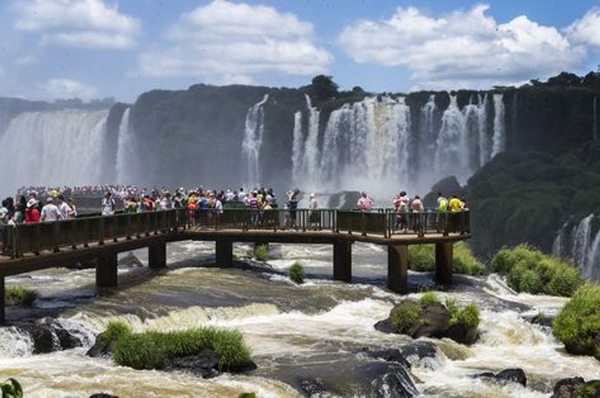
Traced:
[[215, 0], [182, 14], [165, 38], [164, 50], [140, 55], [137, 73], [248, 83], [257, 73], [324, 73], [332, 62], [311, 23], [263, 5]]

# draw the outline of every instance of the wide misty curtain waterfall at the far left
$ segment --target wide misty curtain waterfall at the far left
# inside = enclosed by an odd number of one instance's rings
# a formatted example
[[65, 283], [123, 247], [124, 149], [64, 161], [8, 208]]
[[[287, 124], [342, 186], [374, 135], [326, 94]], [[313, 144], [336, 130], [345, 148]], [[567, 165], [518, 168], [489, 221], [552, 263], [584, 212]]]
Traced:
[[10, 121], [0, 138], [0, 185], [88, 185], [102, 176], [102, 147], [108, 110], [25, 112]]

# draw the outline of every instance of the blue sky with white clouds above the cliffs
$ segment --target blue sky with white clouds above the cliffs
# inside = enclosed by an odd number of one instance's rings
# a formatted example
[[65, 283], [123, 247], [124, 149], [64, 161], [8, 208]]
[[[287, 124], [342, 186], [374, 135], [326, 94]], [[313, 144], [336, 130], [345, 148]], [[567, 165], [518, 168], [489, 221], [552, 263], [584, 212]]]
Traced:
[[485, 89], [600, 64], [600, 0], [0, 0], [0, 97]]

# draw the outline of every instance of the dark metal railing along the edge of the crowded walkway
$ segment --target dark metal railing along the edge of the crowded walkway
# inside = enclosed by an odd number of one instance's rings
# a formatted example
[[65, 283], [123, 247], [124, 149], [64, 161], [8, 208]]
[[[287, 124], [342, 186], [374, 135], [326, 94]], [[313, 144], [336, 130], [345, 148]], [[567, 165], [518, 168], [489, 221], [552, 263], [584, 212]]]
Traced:
[[107, 240], [140, 238], [151, 234], [197, 230], [271, 230], [329, 231], [331, 233], [368, 234], [393, 237], [412, 234], [470, 233], [469, 212], [397, 213], [392, 209], [371, 212], [336, 209], [202, 209], [164, 210], [144, 213], [121, 213], [0, 226], [2, 254], [12, 258], [42, 251], [59, 251], [61, 247], [103, 245]]

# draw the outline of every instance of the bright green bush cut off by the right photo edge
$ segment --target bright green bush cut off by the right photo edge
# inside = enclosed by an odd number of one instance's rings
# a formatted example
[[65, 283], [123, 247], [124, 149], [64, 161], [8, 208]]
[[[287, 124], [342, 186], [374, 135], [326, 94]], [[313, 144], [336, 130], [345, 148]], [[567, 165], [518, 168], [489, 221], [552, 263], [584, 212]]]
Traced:
[[590, 354], [600, 360], [600, 286], [585, 284], [575, 291], [554, 319], [552, 332], [574, 354]]

